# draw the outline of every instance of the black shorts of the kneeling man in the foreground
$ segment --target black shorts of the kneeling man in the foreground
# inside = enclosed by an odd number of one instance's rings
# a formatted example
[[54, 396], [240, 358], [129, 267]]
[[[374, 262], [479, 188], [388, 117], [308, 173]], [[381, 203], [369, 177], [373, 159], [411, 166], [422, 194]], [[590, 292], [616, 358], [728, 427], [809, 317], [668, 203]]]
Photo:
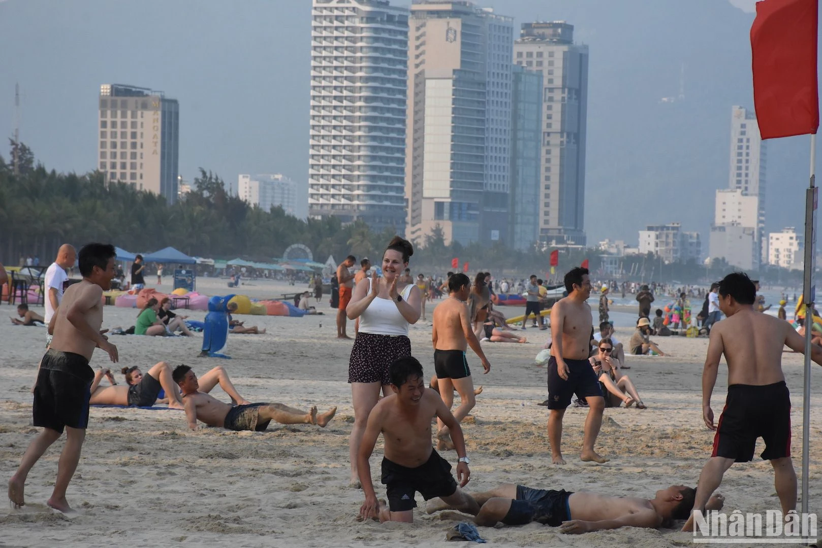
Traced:
[[414, 493], [423, 499], [454, 495], [457, 482], [451, 476], [451, 465], [434, 449], [427, 462], [416, 468], [400, 466], [382, 458], [382, 483], [386, 486], [391, 512], [404, 512], [417, 507]]

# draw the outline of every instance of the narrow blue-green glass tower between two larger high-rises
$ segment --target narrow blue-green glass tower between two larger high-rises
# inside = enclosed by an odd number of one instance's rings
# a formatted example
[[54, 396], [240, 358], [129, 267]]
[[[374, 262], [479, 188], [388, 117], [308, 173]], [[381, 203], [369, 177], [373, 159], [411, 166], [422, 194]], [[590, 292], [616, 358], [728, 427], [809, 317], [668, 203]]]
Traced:
[[543, 75], [515, 65], [511, 81], [509, 245], [526, 251], [539, 241], [539, 150]]

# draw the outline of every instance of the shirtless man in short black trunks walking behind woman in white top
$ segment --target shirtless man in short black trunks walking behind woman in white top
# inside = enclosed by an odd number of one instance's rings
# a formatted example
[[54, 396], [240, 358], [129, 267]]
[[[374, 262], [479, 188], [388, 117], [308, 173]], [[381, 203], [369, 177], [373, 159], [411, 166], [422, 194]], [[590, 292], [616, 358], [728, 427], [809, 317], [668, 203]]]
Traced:
[[[434, 309], [431, 338], [434, 344], [437, 391], [450, 411], [456, 389], [460, 403], [454, 412], [454, 418], [461, 422], [476, 404], [465, 350], [471, 345], [473, 352], [483, 362], [485, 373], [491, 371], [491, 363], [485, 357], [477, 336], [473, 334], [468, 306], [465, 304], [471, 292], [471, 279], [461, 272], [454, 274], [448, 281], [448, 289], [448, 298]], [[436, 449], [454, 449], [454, 444], [448, 438], [448, 428], [440, 419], [437, 419], [436, 424]]]

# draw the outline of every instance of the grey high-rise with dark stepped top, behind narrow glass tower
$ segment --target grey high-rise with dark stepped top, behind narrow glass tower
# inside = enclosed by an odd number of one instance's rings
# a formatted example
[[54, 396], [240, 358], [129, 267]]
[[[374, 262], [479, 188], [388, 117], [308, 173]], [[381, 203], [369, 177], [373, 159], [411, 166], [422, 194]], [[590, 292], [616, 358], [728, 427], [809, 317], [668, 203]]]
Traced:
[[539, 238], [584, 245], [588, 46], [565, 21], [523, 23], [514, 62], [543, 75]]

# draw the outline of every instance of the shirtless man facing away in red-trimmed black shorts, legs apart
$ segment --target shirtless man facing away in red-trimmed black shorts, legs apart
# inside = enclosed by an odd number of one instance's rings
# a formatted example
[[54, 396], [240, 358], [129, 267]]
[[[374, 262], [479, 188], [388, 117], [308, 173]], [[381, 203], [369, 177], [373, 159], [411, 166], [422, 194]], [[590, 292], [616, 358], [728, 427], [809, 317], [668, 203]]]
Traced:
[[[702, 419], [716, 431], [713, 453], [702, 468], [694, 512], [704, 512], [705, 502], [733, 463], [754, 458], [756, 439], [765, 449], [760, 455], [774, 467], [774, 485], [783, 516], [797, 508], [797, 473], [791, 459], [791, 396], [782, 372], [782, 351], [787, 346], [805, 352], [805, 341], [784, 320], [755, 311], [754, 283], [739, 272], [719, 282], [719, 309], [727, 316], [711, 328], [708, 355], [702, 372]], [[811, 346], [811, 358], [822, 365], [822, 348]], [[727, 361], [727, 399], [718, 426], [713, 424], [711, 394], [719, 360]], [[683, 531], [693, 530], [693, 515]]]

